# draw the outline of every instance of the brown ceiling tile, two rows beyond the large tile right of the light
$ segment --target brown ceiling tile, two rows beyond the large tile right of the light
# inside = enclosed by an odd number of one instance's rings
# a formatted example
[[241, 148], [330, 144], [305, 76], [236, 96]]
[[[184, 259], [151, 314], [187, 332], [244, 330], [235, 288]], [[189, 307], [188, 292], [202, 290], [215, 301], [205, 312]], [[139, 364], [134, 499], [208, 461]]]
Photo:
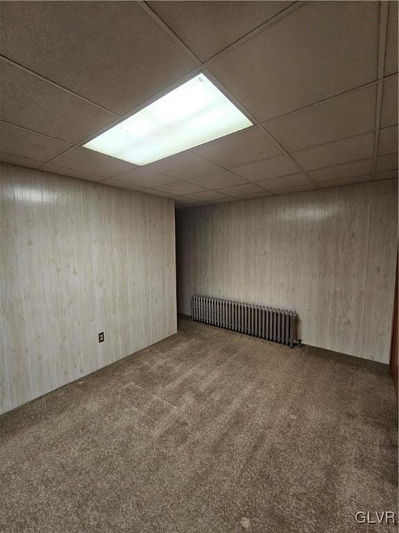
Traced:
[[304, 170], [312, 170], [372, 158], [373, 149], [374, 133], [371, 132], [294, 152], [291, 155]]

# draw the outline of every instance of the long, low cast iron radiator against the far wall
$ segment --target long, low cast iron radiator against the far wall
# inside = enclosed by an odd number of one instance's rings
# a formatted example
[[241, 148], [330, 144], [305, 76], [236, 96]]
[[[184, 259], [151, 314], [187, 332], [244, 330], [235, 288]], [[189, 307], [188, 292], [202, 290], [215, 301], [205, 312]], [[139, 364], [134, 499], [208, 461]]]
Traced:
[[280, 342], [291, 348], [298, 344], [296, 313], [293, 311], [209, 296], [191, 296], [191, 320]]

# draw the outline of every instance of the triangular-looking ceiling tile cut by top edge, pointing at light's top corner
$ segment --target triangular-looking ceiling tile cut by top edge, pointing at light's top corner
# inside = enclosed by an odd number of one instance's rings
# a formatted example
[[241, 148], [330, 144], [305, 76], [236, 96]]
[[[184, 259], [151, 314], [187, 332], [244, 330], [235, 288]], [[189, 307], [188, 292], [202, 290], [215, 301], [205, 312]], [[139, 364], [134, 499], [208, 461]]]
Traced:
[[271, 19], [291, 3], [293, 2], [148, 2], [163, 22], [202, 61]]

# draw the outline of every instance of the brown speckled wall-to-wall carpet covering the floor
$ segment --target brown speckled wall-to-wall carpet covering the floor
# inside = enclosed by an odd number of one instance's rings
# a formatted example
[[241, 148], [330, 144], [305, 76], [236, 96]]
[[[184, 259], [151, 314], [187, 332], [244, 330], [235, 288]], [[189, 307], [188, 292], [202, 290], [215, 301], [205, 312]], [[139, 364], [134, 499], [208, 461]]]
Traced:
[[366, 532], [356, 511], [396, 511], [385, 366], [187, 320], [0, 439], [1, 532]]

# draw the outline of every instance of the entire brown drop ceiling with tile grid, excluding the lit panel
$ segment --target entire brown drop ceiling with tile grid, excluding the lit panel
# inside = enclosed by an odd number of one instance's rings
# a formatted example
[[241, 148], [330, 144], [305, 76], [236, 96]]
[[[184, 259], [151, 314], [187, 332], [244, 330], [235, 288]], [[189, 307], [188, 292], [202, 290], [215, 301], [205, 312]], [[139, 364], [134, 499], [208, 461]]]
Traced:
[[[199, 72], [254, 126], [147, 164], [82, 148]], [[0, 3], [0, 161], [178, 207], [398, 177], [398, 3]]]

